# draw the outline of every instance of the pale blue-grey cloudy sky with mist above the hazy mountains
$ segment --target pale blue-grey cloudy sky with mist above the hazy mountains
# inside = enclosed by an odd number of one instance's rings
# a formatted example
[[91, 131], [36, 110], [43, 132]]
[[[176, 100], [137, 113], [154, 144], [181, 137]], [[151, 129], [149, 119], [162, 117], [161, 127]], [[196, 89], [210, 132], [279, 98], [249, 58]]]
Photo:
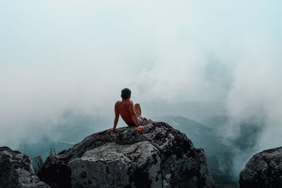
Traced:
[[263, 116], [257, 148], [281, 146], [281, 6], [0, 0], [0, 145], [48, 132], [69, 109], [113, 113], [129, 87], [141, 104], [224, 102], [228, 137]]

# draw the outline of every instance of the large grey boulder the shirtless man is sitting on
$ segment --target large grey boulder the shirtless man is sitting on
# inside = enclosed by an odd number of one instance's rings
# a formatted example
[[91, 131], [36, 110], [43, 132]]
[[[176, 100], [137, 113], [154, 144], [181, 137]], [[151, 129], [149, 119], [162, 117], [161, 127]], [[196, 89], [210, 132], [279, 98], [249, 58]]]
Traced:
[[50, 156], [37, 175], [51, 187], [214, 187], [202, 149], [166, 123], [98, 132]]

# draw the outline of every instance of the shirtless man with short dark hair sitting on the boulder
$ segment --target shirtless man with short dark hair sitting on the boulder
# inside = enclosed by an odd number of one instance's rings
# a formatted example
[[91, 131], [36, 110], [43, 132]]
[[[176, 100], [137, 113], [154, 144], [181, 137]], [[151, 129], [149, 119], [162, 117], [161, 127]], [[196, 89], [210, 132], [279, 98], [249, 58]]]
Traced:
[[113, 132], [116, 130], [116, 125], [118, 124], [118, 118], [121, 114], [121, 118], [125, 123], [130, 127], [135, 127], [137, 132], [142, 133], [144, 127], [142, 125], [147, 125], [151, 120], [147, 120], [141, 116], [141, 107], [140, 104], [135, 104], [133, 106], [133, 101], [130, 101], [131, 91], [128, 88], [121, 90], [121, 99], [122, 101], [117, 101], [114, 106], [114, 111], [116, 117], [114, 118], [114, 127], [109, 129], [107, 132]]

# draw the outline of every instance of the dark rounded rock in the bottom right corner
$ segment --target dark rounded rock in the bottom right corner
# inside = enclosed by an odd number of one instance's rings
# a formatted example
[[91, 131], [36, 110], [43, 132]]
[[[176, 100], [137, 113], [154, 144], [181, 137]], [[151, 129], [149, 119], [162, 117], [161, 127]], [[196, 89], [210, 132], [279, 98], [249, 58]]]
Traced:
[[240, 187], [282, 187], [282, 147], [252, 156], [240, 173]]

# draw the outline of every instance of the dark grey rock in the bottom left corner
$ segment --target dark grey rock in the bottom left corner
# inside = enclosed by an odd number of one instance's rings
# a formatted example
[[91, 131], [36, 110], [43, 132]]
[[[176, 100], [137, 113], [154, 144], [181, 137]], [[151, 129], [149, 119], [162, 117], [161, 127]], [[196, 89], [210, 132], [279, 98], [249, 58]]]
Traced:
[[35, 175], [30, 157], [12, 151], [8, 147], [0, 147], [0, 188], [48, 188]]

